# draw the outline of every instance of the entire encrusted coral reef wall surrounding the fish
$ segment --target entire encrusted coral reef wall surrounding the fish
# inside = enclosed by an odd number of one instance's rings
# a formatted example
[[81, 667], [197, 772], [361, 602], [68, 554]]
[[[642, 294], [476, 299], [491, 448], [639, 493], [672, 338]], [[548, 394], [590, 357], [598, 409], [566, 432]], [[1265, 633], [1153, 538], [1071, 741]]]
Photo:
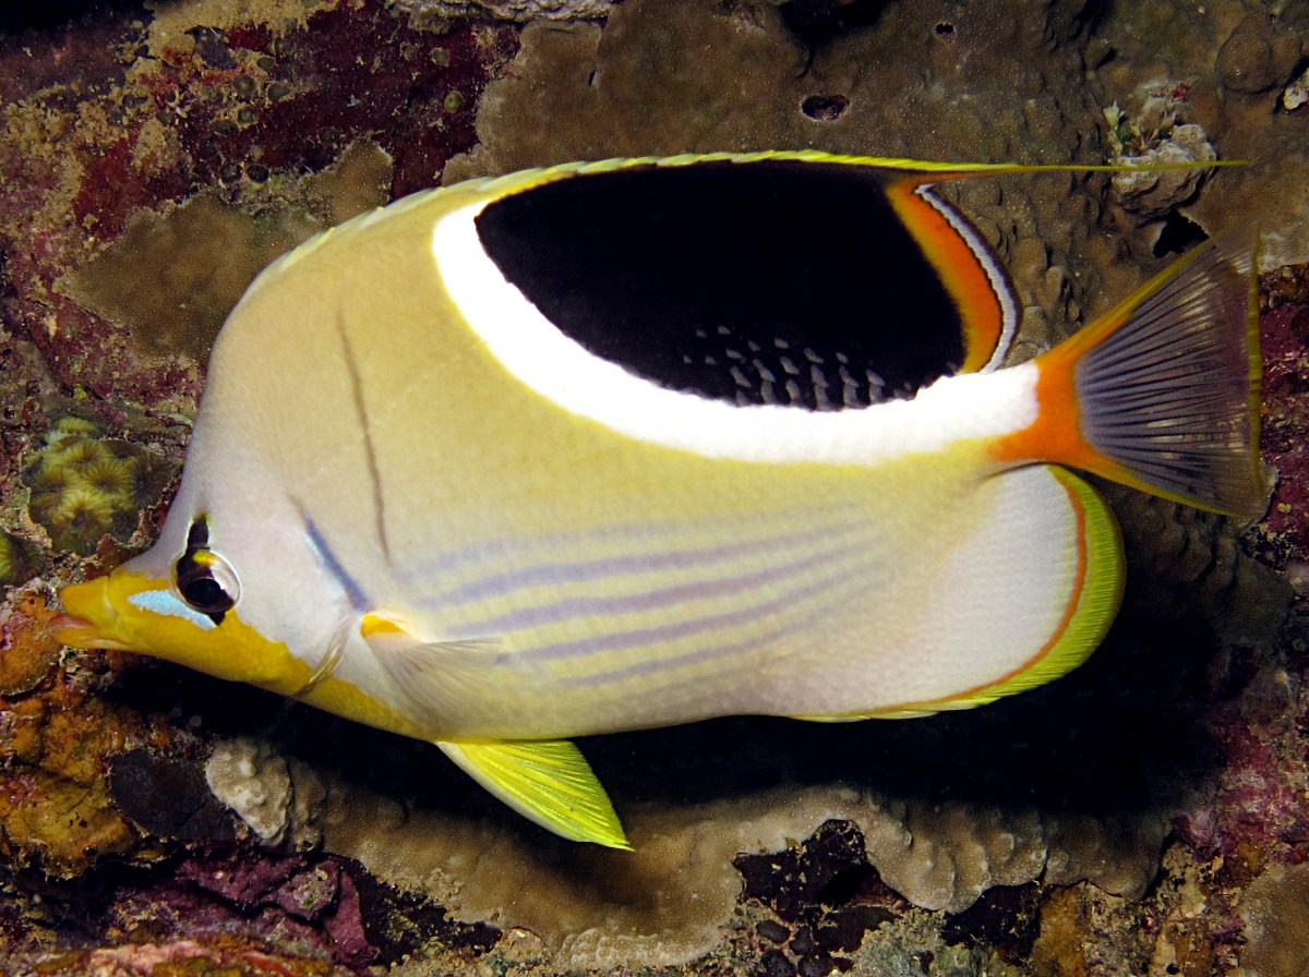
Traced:
[[[0, 10], [0, 974], [1304, 974], [1306, 58], [1309, 8], [1257, 0]], [[1266, 231], [1267, 519], [1107, 487], [1118, 623], [988, 709], [585, 743], [631, 855], [424, 744], [48, 637], [54, 587], [149, 545], [276, 254], [462, 177], [805, 146], [1249, 160], [948, 192], [1014, 277], [1017, 358], [1187, 242]]]

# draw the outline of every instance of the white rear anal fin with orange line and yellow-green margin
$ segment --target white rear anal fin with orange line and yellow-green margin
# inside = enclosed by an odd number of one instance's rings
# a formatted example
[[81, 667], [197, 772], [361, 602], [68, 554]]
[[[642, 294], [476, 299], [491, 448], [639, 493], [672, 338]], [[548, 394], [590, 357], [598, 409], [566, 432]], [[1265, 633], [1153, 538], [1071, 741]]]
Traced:
[[1092, 654], [1122, 596], [1123, 555], [1113, 514], [1085, 480], [1049, 464], [995, 475], [958, 526], [898, 636], [912, 668], [888, 680], [876, 660], [860, 672], [856, 659], [829, 679], [818, 709], [789, 715], [851, 722], [973, 709], [1052, 681]]

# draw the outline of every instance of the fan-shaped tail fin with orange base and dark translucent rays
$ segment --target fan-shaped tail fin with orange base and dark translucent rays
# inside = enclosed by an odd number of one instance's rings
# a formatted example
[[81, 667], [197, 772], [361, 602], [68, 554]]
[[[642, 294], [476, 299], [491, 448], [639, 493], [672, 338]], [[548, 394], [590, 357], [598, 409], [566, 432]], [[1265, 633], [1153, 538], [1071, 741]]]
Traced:
[[[1259, 332], [1253, 256], [1207, 242], [1037, 358], [1030, 453], [1200, 509], [1257, 519]], [[1052, 447], [1051, 447], [1052, 446]]]

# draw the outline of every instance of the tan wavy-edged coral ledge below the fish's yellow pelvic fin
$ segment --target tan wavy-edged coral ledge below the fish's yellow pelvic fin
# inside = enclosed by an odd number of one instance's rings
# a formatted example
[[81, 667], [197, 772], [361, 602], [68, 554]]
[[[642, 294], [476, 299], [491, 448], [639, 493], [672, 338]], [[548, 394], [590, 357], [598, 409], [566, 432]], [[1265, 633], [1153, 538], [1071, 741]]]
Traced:
[[[635, 810], [635, 854], [567, 854], [575, 885], [551, 885], [560, 854], [512, 828], [467, 825], [432, 810], [403, 811], [374, 794], [334, 785], [327, 846], [393, 884], [420, 888], [463, 919], [525, 929], [577, 968], [691, 960], [732, 917], [738, 853], [778, 851], [788, 838], [842, 819], [851, 858], [908, 902], [959, 913], [996, 885], [1045, 878], [1139, 897], [1153, 880], [1168, 821], [1016, 814], [986, 804], [888, 800], [842, 787], [758, 793], [660, 810]], [[386, 812], [368, 819], [367, 812]], [[726, 829], [730, 825], [730, 831]], [[471, 834], [470, 834], [471, 832]], [[469, 863], [480, 849], [492, 865]], [[856, 857], [857, 854], [857, 857]], [[767, 861], [776, 855], [750, 855]], [[512, 866], [497, 871], [493, 865]], [[750, 862], [755, 865], [755, 862]], [[524, 885], [525, 879], [533, 884]], [[749, 882], [749, 876], [747, 876]], [[749, 891], [749, 884], [747, 884]]]

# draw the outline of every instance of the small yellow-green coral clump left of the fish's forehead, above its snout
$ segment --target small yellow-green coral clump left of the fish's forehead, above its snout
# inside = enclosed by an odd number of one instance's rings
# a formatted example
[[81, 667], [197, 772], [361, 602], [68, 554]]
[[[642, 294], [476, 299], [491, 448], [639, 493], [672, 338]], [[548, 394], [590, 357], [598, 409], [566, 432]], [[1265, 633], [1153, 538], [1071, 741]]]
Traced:
[[141, 509], [158, 500], [174, 466], [130, 445], [103, 439], [94, 424], [64, 417], [24, 470], [27, 513], [56, 551], [89, 556], [105, 536], [126, 543]]

